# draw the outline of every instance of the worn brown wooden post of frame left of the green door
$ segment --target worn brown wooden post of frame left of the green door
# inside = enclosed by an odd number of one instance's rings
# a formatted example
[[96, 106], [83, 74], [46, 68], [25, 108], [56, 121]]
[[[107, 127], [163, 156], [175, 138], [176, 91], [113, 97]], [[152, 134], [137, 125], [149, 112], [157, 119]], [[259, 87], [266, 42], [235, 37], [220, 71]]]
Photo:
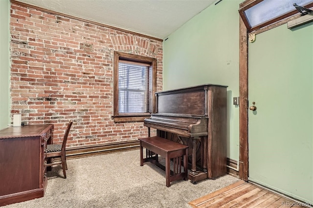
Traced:
[[[246, 5], [247, 1], [241, 3], [239, 8]], [[240, 16], [239, 103], [239, 178], [248, 181], [248, 32]]]

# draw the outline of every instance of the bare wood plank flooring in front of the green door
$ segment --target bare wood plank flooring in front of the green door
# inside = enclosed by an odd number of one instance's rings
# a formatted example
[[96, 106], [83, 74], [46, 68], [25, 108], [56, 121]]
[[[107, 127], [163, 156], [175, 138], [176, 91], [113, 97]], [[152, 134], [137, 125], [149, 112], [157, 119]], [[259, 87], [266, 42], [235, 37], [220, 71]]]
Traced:
[[306, 208], [245, 181], [224, 187], [188, 204], [193, 208]]

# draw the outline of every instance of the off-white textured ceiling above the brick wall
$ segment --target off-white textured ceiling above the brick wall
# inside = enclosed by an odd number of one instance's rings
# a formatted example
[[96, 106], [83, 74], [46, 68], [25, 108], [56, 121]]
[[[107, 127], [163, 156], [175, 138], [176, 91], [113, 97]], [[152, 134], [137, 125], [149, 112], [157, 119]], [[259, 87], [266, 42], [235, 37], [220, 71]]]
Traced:
[[18, 0], [165, 39], [216, 0]]

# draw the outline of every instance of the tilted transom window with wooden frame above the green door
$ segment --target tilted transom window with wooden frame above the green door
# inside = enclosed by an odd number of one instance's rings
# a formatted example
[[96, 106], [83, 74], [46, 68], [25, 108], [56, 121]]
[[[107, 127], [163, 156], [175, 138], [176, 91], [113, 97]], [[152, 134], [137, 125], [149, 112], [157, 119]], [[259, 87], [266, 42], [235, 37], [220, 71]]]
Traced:
[[248, 32], [252, 32], [297, 14], [293, 3], [306, 8], [313, 6], [313, 0], [246, 0], [239, 14]]

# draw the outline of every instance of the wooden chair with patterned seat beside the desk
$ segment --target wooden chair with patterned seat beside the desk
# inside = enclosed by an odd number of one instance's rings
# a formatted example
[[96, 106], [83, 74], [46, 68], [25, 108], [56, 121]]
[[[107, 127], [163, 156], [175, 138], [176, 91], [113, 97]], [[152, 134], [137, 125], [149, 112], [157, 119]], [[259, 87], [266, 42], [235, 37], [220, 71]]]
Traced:
[[[54, 166], [57, 164], [62, 164], [62, 169], [63, 169], [63, 175], [64, 178], [67, 178], [67, 174], [65, 170], [67, 170], [67, 160], [66, 160], [66, 155], [65, 155], [65, 147], [67, 144], [67, 136], [70, 130], [70, 127], [72, 126], [73, 121], [70, 120], [67, 125], [67, 130], [64, 134], [63, 137], [63, 142], [61, 144], [51, 144], [47, 145], [45, 152], [46, 152], [46, 157], [47, 160], [50, 159], [51, 163], [48, 163], [46, 166]], [[56, 157], [61, 157], [61, 161], [53, 161], [54, 158]]]

